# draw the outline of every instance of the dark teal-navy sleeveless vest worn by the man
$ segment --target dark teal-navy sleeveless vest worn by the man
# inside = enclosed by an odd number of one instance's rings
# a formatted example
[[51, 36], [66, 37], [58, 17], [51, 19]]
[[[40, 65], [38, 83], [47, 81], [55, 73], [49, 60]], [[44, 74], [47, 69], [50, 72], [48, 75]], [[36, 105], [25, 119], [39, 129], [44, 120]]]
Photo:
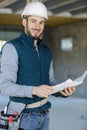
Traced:
[[[38, 86], [42, 84], [50, 85], [49, 68], [52, 60], [52, 54], [49, 48], [38, 39], [38, 53], [34, 47], [34, 38], [22, 33], [20, 37], [10, 41], [14, 45], [18, 53], [18, 73], [17, 84], [27, 86]], [[11, 100], [22, 102], [25, 104], [34, 103], [42, 100], [42, 98], [34, 96], [33, 98], [10, 97]], [[32, 111], [41, 111], [49, 109], [50, 102], [40, 108], [32, 109]]]

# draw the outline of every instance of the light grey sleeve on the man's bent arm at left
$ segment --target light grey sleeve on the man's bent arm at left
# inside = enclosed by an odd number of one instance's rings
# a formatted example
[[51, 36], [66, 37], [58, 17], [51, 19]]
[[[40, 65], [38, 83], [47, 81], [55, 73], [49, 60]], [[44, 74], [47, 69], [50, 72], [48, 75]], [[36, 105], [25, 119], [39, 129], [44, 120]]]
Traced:
[[8, 43], [3, 47], [1, 58], [0, 91], [8, 96], [32, 97], [33, 86], [16, 84], [18, 55], [15, 47]]

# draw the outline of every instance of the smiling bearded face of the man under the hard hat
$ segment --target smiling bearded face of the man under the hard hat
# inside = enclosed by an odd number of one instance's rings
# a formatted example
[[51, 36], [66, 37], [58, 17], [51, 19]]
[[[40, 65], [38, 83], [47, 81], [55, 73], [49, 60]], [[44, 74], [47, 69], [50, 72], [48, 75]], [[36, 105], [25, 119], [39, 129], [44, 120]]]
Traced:
[[45, 19], [39, 16], [29, 16], [26, 19], [25, 32], [35, 38], [38, 38], [45, 25]]

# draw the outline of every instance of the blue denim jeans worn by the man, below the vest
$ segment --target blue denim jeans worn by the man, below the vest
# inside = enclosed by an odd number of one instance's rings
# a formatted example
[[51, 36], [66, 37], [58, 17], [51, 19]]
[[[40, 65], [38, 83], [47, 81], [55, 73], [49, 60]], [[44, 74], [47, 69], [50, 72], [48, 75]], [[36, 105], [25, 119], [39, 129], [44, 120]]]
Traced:
[[22, 113], [19, 128], [24, 130], [49, 130], [49, 112]]

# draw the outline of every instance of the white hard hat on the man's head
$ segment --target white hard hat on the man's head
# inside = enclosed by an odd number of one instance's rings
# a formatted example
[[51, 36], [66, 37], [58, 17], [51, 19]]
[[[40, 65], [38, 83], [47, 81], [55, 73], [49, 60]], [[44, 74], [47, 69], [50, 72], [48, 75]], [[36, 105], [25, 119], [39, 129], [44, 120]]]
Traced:
[[40, 16], [40, 17], [43, 17], [45, 19], [48, 19], [47, 8], [41, 2], [28, 3], [25, 6], [24, 11], [22, 12], [21, 16], [23, 18], [24, 16], [27, 16], [27, 15], [36, 15], [36, 16]]

